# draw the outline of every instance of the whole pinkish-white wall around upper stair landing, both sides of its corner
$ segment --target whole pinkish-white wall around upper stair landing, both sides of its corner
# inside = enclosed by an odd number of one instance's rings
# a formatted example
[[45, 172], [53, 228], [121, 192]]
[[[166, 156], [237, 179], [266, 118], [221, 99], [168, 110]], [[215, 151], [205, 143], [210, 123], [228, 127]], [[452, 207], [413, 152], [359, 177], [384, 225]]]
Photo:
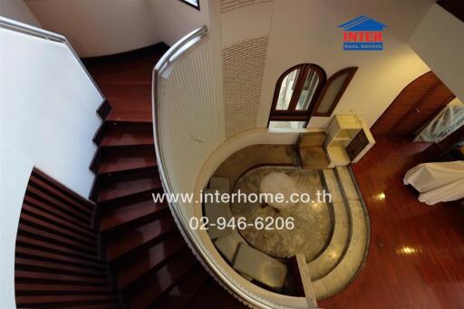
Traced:
[[81, 57], [172, 45], [208, 24], [208, 0], [200, 11], [179, 0], [25, 1], [43, 28], [65, 35]]

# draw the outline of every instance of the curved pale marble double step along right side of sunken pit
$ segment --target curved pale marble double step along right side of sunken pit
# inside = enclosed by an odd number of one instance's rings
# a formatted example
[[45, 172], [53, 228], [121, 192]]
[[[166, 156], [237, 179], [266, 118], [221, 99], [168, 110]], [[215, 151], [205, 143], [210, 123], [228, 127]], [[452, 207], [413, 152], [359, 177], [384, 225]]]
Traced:
[[324, 169], [323, 175], [333, 195], [334, 229], [324, 253], [308, 264], [318, 300], [341, 292], [353, 281], [369, 244], [369, 217], [350, 169]]

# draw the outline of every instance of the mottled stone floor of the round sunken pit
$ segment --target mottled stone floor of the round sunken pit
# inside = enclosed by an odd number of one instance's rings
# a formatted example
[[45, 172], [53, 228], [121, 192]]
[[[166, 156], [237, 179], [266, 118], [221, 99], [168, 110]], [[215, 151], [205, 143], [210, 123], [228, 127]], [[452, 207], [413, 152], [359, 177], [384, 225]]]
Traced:
[[[315, 170], [292, 167], [262, 167], [252, 169], [237, 181], [234, 192], [259, 194], [261, 180], [269, 173], [283, 172], [295, 182], [295, 193], [309, 193], [316, 198], [316, 191], [322, 191], [323, 185], [319, 173]], [[275, 257], [292, 257], [304, 253], [306, 261], [312, 261], [328, 244], [333, 230], [332, 205], [327, 203], [296, 203], [294, 207], [276, 210], [271, 206], [262, 207], [261, 203], [241, 202], [231, 204], [232, 214], [247, 218], [247, 223], [255, 222], [257, 217], [293, 217], [294, 229], [256, 229], [247, 227], [240, 230], [247, 242], [261, 252]]]

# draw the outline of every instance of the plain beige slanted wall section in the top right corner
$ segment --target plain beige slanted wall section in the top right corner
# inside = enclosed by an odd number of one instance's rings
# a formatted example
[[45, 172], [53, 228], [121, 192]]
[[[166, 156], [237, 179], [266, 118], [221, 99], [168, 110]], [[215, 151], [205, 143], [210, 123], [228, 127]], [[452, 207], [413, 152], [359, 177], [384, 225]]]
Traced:
[[433, 5], [409, 43], [449, 90], [464, 100], [464, 23]]

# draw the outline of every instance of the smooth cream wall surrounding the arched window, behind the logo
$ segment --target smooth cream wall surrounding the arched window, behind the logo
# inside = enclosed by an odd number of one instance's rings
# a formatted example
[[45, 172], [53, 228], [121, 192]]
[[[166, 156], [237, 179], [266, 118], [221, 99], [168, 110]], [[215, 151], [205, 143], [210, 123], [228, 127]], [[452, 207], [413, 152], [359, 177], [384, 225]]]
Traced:
[[[316, 63], [330, 77], [349, 66], [359, 70], [334, 113], [358, 113], [371, 126], [391, 101], [412, 80], [430, 69], [404, 43], [433, 1], [334, 0], [274, 1], [266, 71], [256, 127], [266, 127], [275, 82], [297, 63]], [[398, 8], [401, 8], [399, 10]], [[388, 28], [384, 51], [344, 52], [343, 31], [337, 27], [360, 14], [367, 14]], [[310, 128], [323, 128], [328, 118], [314, 117]]]

